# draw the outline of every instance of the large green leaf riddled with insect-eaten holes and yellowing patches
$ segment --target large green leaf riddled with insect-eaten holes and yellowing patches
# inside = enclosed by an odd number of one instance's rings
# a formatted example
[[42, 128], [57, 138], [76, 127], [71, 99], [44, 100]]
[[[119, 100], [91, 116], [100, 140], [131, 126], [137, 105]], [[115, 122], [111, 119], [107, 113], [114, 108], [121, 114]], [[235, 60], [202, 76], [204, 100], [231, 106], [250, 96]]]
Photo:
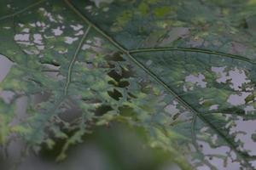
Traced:
[[[254, 169], [240, 138], [252, 134], [239, 128], [255, 121], [253, 1], [3, 4], [0, 54], [15, 65], [0, 89], [15, 95], [0, 105], [2, 144], [14, 132], [31, 147], [66, 139], [61, 160], [85, 133], [118, 121], [143, 127], [183, 169]], [[15, 109], [3, 111], [21, 96], [26, 118], [10, 125]]]

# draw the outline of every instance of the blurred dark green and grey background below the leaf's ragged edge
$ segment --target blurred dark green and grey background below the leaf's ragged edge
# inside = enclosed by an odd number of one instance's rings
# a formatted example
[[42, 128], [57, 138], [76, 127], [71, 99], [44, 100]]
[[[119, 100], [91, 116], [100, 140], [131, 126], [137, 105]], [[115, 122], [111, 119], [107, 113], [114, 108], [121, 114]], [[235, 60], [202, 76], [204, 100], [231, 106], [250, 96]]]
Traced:
[[[1, 170], [178, 170], [172, 156], [164, 150], [149, 148], [139, 129], [114, 123], [98, 127], [67, 152], [67, 159], [56, 162], [62, 141], [54, 150], [44, 148], [38, 156], [30, 155], [21, 162], [22, 143], [9, 146], [9, 157], [1, 159]], [[3, 151], [3, 148], [2, 148]]]

